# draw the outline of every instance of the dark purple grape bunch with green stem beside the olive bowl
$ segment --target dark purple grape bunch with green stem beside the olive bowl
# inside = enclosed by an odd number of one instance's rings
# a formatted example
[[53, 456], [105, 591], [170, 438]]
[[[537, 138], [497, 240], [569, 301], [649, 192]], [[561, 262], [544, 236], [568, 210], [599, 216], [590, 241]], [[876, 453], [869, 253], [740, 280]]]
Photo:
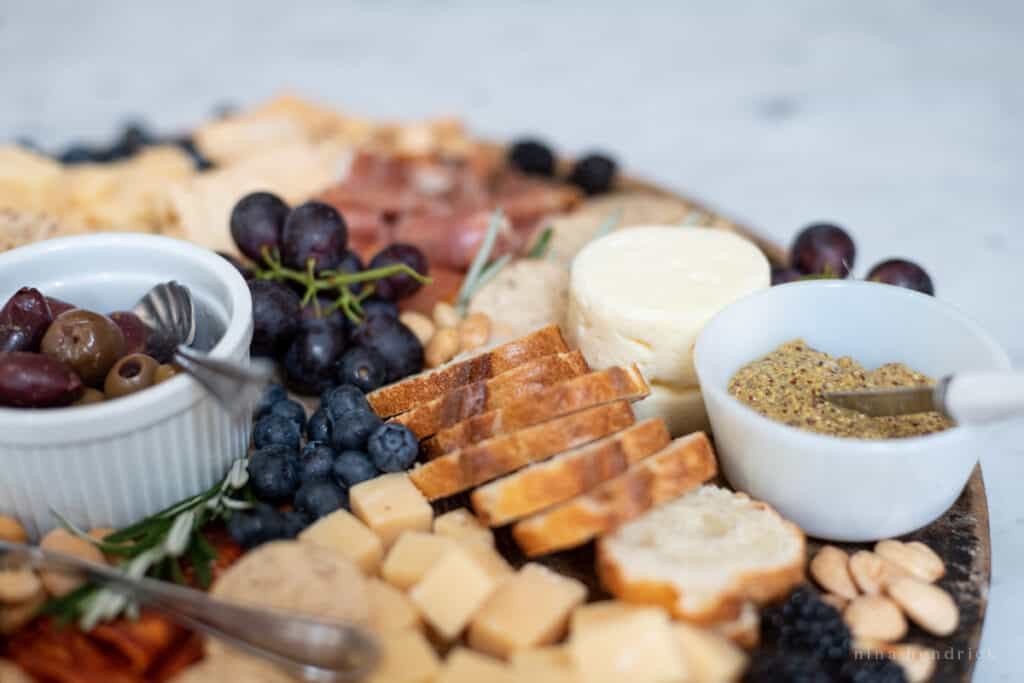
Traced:
[[252, 354], [280, 360], [291, 390], [316, 395], [349, 384], [372, 391], [423, 369], [423, 346], [395, 304], [425, 281], [419, 249], [393, 244], [364, 267], [334, 207], [290, 209], [270, 193], [244, 197], [230, 231], [254, 263], [227, 257], [249, 281]]

